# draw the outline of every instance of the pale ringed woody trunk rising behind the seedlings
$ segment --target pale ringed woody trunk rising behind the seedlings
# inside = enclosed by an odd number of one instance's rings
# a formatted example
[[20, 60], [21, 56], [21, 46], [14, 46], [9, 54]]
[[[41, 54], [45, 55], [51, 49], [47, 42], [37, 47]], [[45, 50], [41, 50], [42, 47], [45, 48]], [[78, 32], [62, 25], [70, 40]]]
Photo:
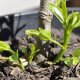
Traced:
[[48, 8], [50, 2], [55, 2], [56, 0], [41, 0], [40, 11], [39, 11], [39, 27], [51, 31], [51, 21], [53, 18], [52, 12]]

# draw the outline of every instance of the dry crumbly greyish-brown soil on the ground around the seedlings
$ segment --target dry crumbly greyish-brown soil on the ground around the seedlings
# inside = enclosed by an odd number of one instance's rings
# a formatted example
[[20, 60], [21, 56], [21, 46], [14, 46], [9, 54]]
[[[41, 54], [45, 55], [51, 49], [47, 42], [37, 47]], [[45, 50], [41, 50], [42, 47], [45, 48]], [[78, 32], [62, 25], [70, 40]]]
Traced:
[[[53, 30], [52, 34], [60, 39], [62, 31], [55, 28]], [[57, 33], [56, 35], [54, 34], [55, 32]], [[21, 45], [28, 46], [26, 38], [17, 38], [17, 40], [7, 42], [12, 45], [11, 47], [14, 50], [19, 49]], [[29, 42], [33, 41], [29, 40]], [[73, 50], [79, 47], [80, 38], [78, 35], [72, 33], [68, 50], [64, 56], [71, 55]], [[59, 48], [56, 45], [50, 45], [51, 56], [55, 56], [58, 51]], [[22, 55], [20, 52], [20, 57]], [[59, 62], [56, 65], [49, 65], [46, 63], [46, 57], [42, 54], [40, 56], [36, 58], [42, 60], [40, 63], [34, 60], [32, 64], [25, 67], [25, 71], [23, 72], [18, 67], [11, 66], [9, 62], [0, 61], [0, 80], [80, 80], [80, 63], [72, 67], [65, 65], [63, 62]]]

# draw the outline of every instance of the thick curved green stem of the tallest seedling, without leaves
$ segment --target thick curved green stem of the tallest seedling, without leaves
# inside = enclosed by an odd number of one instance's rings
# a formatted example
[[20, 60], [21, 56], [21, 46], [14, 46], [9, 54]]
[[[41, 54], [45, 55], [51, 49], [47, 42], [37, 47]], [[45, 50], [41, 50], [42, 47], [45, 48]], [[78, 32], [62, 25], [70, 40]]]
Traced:
[[62, 58], [63, 54], [66, 52], [67, 47], [68, 47], [69, 38], [70, 38], [69, 30], [64, 29], [64, 38], [63, 38], [64, 39], [64, 41], [63, 41], [63, 47], [64, 48], [61, 48], [57, 57], [54, 59], [53, 63], [58, 62]]

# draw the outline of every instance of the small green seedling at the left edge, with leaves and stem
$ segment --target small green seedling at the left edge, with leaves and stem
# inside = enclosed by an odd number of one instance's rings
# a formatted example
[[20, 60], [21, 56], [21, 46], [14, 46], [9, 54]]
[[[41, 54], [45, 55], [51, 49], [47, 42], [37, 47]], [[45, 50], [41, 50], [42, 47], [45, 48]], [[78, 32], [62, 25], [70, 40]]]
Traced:
[[10, 62], [16, 62], [17, 65], [22, 69], [24, 70], [24, 66], [19, 58], [19, 53], [18, 51], [14, 52], [10, 46], [4, 42], [4, 41], [0, 41], [0, 52], [3, 52], [3, 51], [8, 51], [11, 53], [11, 56], [9, 57], [0, 57], [0, 59], [3, 59], [3, 60], [8, 60]]

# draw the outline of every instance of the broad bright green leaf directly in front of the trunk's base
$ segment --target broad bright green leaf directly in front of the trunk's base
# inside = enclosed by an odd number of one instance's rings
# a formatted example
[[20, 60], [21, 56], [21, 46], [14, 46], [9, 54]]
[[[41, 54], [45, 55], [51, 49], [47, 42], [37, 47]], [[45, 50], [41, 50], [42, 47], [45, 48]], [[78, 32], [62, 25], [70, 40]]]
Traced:
[[48, 31], [48, 30], [41, 30], [40, 31], [40, 34], [39, 34], [39, 38], [43, 41], [47, 41], [47, 40], [50, 40], [52, 39], [51, 38], [51, 32]]

